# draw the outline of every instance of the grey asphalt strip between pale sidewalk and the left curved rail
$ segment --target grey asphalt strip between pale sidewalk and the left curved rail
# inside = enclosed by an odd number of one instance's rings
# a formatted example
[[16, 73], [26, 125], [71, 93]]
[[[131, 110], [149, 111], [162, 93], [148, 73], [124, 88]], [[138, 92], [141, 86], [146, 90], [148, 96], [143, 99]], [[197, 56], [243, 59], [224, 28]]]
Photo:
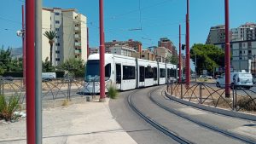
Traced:
[[[138, 89], [141, 90], [141, 89]], [[150, 124], [145, 122], [136, 112], [133, 112], [127, 102], [128, 95], [131, 91], [125, 91], [119, 94], [117, 100], [111, 100], [109, 107], [114, 118], [122, 128], [137, 141], [138, 144], [170, 144], [177, 143], [159, 130], [154, 129]]]

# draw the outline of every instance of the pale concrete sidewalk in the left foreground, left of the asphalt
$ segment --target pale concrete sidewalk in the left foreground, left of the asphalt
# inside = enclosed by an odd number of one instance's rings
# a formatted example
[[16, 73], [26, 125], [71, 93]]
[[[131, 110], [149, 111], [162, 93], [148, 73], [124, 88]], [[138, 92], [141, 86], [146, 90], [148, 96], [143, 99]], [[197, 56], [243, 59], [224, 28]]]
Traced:
[[[113, 118], [108, 101], [44, 109], [43, 143], [136, 144]], [[26, 144], [26, 118], [0, 123], [0, 130], [0, 144]]]

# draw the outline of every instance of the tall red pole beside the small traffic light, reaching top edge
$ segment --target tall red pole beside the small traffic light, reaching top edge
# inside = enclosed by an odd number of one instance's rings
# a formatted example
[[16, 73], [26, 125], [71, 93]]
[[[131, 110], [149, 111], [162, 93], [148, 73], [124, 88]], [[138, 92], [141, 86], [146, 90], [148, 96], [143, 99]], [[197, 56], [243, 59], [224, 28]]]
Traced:
[[189, 55], [189, 0], [187, 0], [186, 14], [186, 85], [190, 83], [190, 55]]

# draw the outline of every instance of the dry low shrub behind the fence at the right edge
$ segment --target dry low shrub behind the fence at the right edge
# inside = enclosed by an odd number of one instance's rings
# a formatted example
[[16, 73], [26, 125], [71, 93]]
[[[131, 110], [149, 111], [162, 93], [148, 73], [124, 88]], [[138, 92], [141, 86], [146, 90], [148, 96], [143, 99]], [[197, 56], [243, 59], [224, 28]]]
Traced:
[[243, 97], [241, 100], [237, 101], [237, 106], [246, 111], [256, 111], [256, 101], [252, 101], [249, 97]]

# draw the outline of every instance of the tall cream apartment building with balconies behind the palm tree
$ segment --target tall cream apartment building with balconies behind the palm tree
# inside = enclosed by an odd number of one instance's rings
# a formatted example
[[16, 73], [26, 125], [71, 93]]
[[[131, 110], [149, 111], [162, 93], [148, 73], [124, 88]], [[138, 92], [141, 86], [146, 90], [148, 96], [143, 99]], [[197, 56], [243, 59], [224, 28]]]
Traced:
[[[52, 65], [59, 66], [70, 58], [87, 60], [86, 17], [76, 9], [43, 8], [42, 33], [57, 33], [53, 46]], [[42, 36], [42, 60], [49, 58], [49, 40]]]

